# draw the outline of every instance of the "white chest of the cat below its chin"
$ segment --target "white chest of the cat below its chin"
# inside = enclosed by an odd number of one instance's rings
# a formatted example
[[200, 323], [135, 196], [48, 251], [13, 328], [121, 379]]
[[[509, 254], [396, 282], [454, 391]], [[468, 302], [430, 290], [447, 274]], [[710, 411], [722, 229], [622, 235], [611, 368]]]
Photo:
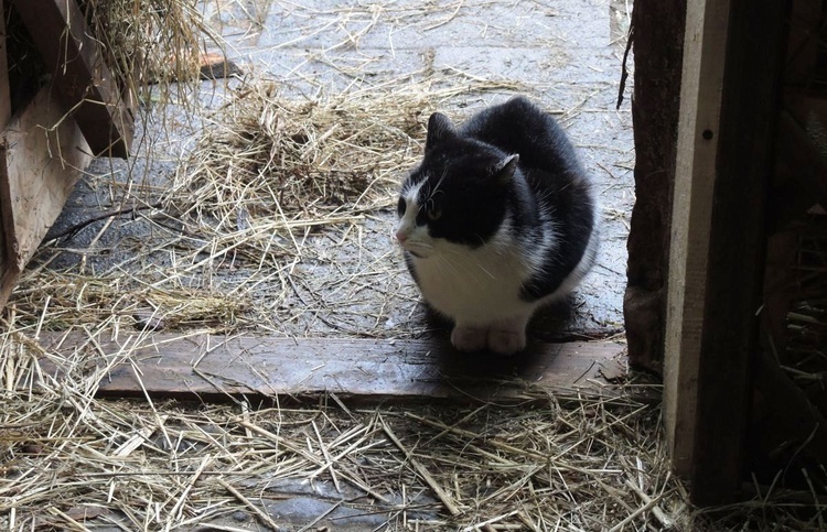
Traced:
[[441, 242], [438, 252], [414, 258], [419, 287], [438, 312], [463, 323], [492, 323], [533, 305], [519, 297], [527, 265], [513, 243], [471, 249]]

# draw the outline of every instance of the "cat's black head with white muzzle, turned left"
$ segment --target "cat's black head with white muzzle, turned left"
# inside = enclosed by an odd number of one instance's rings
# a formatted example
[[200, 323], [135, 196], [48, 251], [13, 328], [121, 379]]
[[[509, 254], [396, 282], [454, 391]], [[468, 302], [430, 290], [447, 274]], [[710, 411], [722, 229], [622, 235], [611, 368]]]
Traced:
[[463, 137], [439, 112], [428, 121], [425, 158], [402, 184], [396, 238], [415, 257], [445, 245], [483, 246], [507, 216], [518, 156]]

